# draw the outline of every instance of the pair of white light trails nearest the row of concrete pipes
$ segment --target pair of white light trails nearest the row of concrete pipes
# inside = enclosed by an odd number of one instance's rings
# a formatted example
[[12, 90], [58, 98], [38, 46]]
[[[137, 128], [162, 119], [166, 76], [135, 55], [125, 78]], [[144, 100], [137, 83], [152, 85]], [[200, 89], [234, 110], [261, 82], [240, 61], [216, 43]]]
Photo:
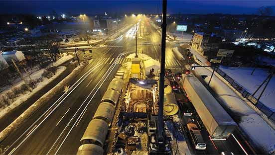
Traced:
[[[111, 67], [107, 70], [107, 72], [102, 76], [102, 78], [99, 80], [99, 82], [96, 84], [96, 86], [93, 88], [93, 90], [89, 93], [89, 95], [86, 97], [86, 99], [83, 101], [83, 103], [80, 105], [80, 107], [78, 108], [78, 110], [75, 112], [75, 114], [73, 115], [73, 117], [71, 118], [71, 120], [69, 121], [69, 123], [66, 125], [66, 127], [63, 129], [63, 131], [61, 132], [61, 134], [58, 136], [58, 138], [56, 139], [56, 141], [54, 142], [54, 144], [52, 145], [52, 147], [50, 148], [50, 150], [48, 151], [48, 153], [46, 155], [48, 155], [52, 148], [54, 147], [54, 145], [56, 144], [56, 142], [59, 140], [59, 138], [61, 137], [61, 135], [63, 134], [63, 132], [67, 129], [67, 127], [69, 126], [69, 124], [71, 123], [71, 121], [75, 118], [76, 114], [78, 113], [78, 111], [80, 110], [80, 108], [83, 106], [83, 104], [87, 101], [87, 99], [89, 98], [89, 96], [92, 94], [92, 92], [96, 89], [97, 85], [101, 82], [101, 80], [106, 76], [106, 78], [104, 79], [104, 81], [108, 78], [108, 76], [111, 74], [111, 72], [109, 72], [109, 70], [113, 70], [117, 64], [117, 62], [119, 61], [119, 59], [122, 57], [122, 54], [120, 54], [116, 60], [114, 61], [114, 63], [111, 65]], [[104, 83], [104, 81], [102, 82], [102, 84]], [[101, 84], [101, 85], [102, 85]], [[100, 85], [100, 87], [101, 87]], [[100, 88], [99, 87], [99, 88]], [[97, 89], [97, 91], [99, 90], [99, 88]], [[97, 91], [94, 93], [93, 97], [91, 98], [91, 100], [94, 98], [95, 94], [97, 93]], [[89, 105], [89, 103], [91, 102], [91, 100], [87, 103], [86, 107], [84, 109], [87, 108], [87, 106]], [[83, 113], [83, 111], [82, 111]], [[82, 115], [82, 113], [80, 115]], [[80, 116], [78, 117], [78, 119], [80, 118]], [[78, 119], [75, 121], [74, 125], [72, 126], [72, 128], [70, 129], [70, 131], [68, 132], [67, 136], [65, 137], [65, 139], [63, 140], [62, 144], [59, 146], [58, 150], [56, 151], [55, 155], [58, 153], [59, 149], [61, 148], [61, 146], [63, 145], [63, 143], [65, 142], [65, 140], [67, 139], [68, 135], [70, 134], [70, 132], [72, 131], [73, 127], [75, 126], [76, 122], [78, 121]]]

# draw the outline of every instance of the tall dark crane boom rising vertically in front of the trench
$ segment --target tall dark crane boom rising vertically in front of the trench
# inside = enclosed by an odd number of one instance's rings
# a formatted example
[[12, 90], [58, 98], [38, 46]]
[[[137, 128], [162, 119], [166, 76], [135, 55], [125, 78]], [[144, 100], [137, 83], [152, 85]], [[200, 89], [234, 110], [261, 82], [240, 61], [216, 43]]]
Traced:
[[163, 138], [163, 101], [164, 101], [164, 72], [165, 72], [165, 45], [166, 45], [166, 14], [167, 0], [162, 0], [162, 35], [161, 35], [161, 64], [159, 76], [159, 104], [158, 104], [158, 125], [157, 144], [158, 151], [164, 151]]

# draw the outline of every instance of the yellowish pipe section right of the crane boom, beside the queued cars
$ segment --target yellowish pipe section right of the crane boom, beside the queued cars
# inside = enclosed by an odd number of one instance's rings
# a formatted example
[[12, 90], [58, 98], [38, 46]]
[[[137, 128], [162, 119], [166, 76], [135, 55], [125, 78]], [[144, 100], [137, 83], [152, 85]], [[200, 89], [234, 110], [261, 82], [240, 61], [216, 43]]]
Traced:
[[174, 94], [164, 94], [163, 113], [171, 116], [178, 112], [178, 105]]

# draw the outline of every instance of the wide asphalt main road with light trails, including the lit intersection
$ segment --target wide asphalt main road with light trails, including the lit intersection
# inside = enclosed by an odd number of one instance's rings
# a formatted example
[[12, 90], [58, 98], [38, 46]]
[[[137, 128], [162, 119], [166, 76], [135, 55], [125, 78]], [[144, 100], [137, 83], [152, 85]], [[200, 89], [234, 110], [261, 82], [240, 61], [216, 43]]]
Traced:
[[[141, 27], [142, 28], [142, 27]], [[46, 105], [35, 112], [18, 130], [0, 143], [8, 155], [68, 155], [76, 154], [80, 139], [114, 77], [120, 64], [130, 61], [125, 56], [134, 53], [135, 27], [115, 40], [106, 41], [109, 48], [93, 48], [94, 59], [81, 73], [71, 79], [67, 93], [56, 92]], [[138, 52], [160, 61], [160, 34], [144, 21], [142, 38], [138, 38]], [[96, 45], [100, 47], [101, 44]], [[171, 48], [178, 46], [167, 43], [165, 67], [173, 71], [182, 71], [186, 61], [180, 61]], [[104, 46], [101, 46], [104, 47]], [[209, 141], [209, 140], [208, 140]], [[230, 141], [231, 142], [231, 141]], [[221, 150], [243, 154], [234, 145], [225, 144]], [[209, 143], [211, 144], [211, 143]], [[190, 148], [193, 148], [188, 143]], [[232, 147], [234, 146], [234, 147]], [[217, 154], [213, 145], [207, 146], [207, 153]]]

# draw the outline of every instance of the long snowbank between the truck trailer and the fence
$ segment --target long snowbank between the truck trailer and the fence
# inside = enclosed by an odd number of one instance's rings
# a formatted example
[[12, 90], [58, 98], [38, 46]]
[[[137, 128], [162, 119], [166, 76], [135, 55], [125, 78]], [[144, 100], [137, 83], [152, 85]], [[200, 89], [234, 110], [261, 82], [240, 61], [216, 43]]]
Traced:
[[[194, 71], [198, 75], [211, 76], [211, 71], [206, 68], [196, 68]], [[208, 81], [209, 78], [205, 80]], [[213, 76], [210, 87], [224, 101], [223, 106], [234, 113], [235, 120], [239, 120], [236, 123], [247, 135], [249, 141], [266, 153], [275, 152], [275, 130], [216, 75]]]

